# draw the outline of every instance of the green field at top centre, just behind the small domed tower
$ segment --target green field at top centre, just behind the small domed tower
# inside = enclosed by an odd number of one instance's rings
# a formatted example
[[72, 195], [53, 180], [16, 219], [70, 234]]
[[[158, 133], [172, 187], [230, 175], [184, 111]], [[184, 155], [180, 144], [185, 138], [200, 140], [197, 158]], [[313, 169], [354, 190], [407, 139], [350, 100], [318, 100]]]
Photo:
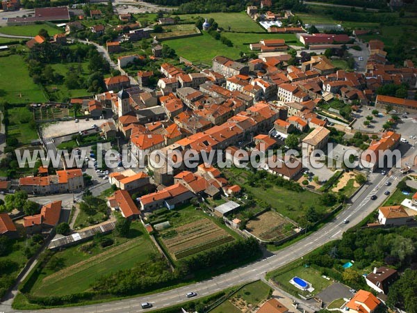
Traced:
[[179, 15], [181, 21], [196, 22], [198, 17], [204, 19], [213, 18], [219, 27], [228, 30], [230, 26], [231, 31], [252, 31], [262, 32], [265, 31], [259, 24], [256, 24], [253, 19], [249, 17], [245, 12], [241, 13], [208, 13], [208, 14], [186, 14]]

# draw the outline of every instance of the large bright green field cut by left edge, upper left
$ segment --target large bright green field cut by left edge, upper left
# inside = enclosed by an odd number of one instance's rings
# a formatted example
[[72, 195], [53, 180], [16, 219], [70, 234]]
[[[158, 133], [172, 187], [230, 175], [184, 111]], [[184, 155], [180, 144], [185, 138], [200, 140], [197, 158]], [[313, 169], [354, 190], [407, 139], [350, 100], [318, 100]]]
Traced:
[[0, 58], [0, 68], [0, 101], [24, 104], [47, 100], [42, 88], [29, 77], [23, 56], [15, 54]]

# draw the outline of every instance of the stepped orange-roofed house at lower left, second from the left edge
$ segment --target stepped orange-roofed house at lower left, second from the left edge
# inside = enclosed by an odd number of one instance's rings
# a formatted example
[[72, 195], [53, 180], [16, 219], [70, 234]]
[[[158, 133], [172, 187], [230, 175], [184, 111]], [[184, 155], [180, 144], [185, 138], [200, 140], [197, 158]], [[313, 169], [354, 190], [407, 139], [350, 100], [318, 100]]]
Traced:
[[62, 201], [54, 201], [45, 204], [40, 209], [40, 214], [25, 216], [23, 226], [26, 234], [39, 234], [40, 232], [49, 232], [59, 223]]

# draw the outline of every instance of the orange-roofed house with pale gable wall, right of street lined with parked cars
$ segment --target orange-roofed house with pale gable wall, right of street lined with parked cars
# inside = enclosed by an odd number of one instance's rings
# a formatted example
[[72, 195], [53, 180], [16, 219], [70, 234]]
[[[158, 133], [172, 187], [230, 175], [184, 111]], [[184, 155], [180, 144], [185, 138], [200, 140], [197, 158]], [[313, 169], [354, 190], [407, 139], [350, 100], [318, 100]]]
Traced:
[[117, 188], [122, 190], [136, 192], [149, 187], [149, 175], [145, 172], [136, 173], [133, 170], [112, 172], [108, 175], [108, 182], [112, 185], [115, 184]]

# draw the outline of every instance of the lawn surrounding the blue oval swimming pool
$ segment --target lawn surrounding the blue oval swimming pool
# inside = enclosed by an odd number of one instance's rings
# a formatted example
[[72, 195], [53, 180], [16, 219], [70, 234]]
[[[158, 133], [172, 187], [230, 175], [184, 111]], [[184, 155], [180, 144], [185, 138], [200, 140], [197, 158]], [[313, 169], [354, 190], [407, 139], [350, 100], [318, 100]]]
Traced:
[[314, 291], [311, 294], [318, 294], [323, 289], [327, 288], [332, 284], [331, 280], [327, 280], [321, 277], [319, 271], [311, 267], [304, 267], [302, 265], [297, 266], [295, 268], [284, 268], [281, 270], [277, 270], [277, 274], [272, 273], [272, 280], [276, 282], [280, 287], [284, 290], [288, 291], [290, 294], [309, 294], [309, 291], [301, 291], [293, 284], [291, 284], [290, 280], [297, 276], [302, 280], [306, 280], [311, 284], [314, 288]]

